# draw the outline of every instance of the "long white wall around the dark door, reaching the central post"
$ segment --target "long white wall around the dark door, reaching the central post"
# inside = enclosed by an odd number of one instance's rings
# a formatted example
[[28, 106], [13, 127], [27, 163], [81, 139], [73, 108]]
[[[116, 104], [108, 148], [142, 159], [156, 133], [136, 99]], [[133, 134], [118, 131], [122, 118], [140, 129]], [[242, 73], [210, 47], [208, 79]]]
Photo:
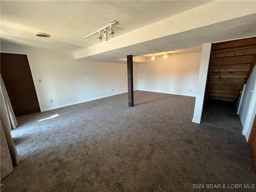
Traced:
[[[1, 51], [29, 53], [42, 111], [128, 91], [126, 64], [78, 61], [72, 52], [14, 44], [1, 43]], [[134, 90], [136, 69], [134, 65]]]

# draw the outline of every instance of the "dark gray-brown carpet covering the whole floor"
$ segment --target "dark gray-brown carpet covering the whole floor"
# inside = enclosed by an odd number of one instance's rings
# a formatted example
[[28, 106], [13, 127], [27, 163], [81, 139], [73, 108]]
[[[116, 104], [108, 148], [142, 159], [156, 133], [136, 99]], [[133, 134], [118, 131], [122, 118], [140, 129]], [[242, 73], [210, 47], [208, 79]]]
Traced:
[[[234, 104], [213, 101], [192, 123], [194, 97], [134, 92], [20, 116], [20, 164], [1, 192], [190, 192], [256, 184]], [[204, 184], [204, 189], [193, 189]]]

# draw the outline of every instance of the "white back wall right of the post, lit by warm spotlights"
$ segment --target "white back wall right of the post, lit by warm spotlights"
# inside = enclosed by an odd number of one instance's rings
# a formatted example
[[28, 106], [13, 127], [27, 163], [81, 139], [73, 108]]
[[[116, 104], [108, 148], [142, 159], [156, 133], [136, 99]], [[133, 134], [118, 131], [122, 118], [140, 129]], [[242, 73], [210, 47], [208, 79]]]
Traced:
[[195, 52], [137, 64], [138, 90], [196, 96], [200, 58]]

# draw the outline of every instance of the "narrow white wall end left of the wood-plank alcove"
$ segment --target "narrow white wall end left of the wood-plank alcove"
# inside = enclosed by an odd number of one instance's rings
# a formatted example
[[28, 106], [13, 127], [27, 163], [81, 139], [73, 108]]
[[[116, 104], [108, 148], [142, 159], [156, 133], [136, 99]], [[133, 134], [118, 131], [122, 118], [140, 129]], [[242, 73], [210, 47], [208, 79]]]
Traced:
[[200, 123], [203, 112], [204, 93], [208, 74], [209, 60], [211, 54], [212, 43], [205, 43], [202, 47], [202, 56], [200, 60], [200, 70], [198, 75], [198, 86], [196, 92], [196, 102], [194, 107], [194, 116], [192, 122]]

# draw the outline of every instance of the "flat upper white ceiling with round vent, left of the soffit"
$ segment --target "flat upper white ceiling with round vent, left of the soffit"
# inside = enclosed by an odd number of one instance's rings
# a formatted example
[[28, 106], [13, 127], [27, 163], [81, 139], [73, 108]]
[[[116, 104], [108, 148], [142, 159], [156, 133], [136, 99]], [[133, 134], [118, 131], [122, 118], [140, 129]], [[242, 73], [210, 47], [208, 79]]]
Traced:
[[[1, 41], [77, 51], [100, 43], [97, 34], [84, 36], [112, 20], [119, 22], [113, 27], [116, 37], [210, 2], [1, 0]], [[51, 37], [38, 38], [35, 32]]]

